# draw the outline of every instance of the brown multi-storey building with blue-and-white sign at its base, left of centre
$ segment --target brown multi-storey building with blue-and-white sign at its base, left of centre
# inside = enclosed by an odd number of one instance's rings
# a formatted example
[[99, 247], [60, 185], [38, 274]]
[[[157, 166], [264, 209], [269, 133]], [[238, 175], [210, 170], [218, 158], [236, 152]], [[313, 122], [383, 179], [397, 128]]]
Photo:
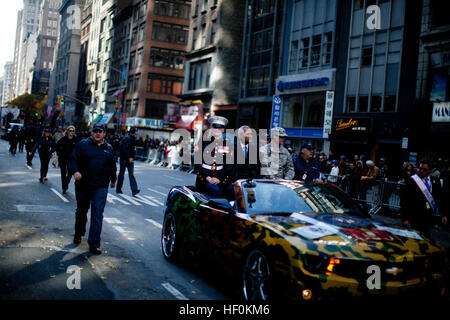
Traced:
[[191, 1], [133, 1], [124, 111], [127, 125], [169, 137], [168, 104], [183, 93]]

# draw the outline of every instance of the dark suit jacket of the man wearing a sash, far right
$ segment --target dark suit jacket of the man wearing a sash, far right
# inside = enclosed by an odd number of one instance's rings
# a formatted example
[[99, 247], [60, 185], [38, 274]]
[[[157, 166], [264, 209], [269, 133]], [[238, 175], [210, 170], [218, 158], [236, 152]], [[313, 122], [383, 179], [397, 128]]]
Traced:
[[[441, 216], [447, 212], [442, 206], [442, 188], [438, 180], [430, 177], [431, 189], [436, 207]], [[434, 224], [433, 210], [427, 206], [427, 200], [412, 178], [406, 180], [401, 198], [401, 218], [402, 221], [409, 221], [411, 226], [417, 230], [429, 232], [429, 228]], [[431, 207], [431, 206], [430, 206]]]

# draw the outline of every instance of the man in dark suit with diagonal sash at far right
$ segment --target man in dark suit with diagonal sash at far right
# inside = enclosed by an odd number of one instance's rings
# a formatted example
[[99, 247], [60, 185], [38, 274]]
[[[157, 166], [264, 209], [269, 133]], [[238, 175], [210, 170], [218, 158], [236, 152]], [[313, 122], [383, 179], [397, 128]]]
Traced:
[[442, 205], [442, 188], [438, 180], [430, 178], [431, 161], [422, 160], [419, 173], [406, 181], [401, 197], [401, 217], [407, 227], [430, 236], [431, 227], [439, 222], [447, 224], [447, 208]]

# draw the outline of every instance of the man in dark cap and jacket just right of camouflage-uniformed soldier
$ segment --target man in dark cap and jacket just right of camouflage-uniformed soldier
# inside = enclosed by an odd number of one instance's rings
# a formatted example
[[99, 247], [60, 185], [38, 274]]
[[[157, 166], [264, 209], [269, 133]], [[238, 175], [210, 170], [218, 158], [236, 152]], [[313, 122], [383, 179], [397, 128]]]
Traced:
[[311, 143], [302, 144], [300, 154], [295, 161], [295, 180], [307, 183], [319, 181], [319, 163], [313, 158], [314, 148]]

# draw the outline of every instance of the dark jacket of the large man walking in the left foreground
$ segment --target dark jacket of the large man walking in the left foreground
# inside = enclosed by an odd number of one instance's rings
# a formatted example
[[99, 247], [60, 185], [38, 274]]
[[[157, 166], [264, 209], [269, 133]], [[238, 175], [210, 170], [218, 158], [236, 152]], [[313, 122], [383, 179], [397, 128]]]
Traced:
[[114, 150], [109, 143], [97, 146], [92, 137], [75, 145], [69, 157], [71, 172], [79, 172], [82, 178], [78, 183], [94, 188], [108, 188], [109, 182], [116, 183], [116, 161]]

